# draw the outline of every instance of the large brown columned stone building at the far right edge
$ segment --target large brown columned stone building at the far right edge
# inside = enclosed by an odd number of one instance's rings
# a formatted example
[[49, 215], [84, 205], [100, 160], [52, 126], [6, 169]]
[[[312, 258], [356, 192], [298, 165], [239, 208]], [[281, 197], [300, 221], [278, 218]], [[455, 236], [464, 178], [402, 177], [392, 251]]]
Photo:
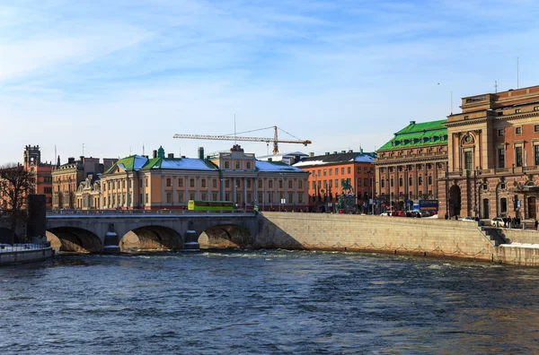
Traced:
[[539, 86], [462, 99], [447, 117], [440, 212], [537, 218]]

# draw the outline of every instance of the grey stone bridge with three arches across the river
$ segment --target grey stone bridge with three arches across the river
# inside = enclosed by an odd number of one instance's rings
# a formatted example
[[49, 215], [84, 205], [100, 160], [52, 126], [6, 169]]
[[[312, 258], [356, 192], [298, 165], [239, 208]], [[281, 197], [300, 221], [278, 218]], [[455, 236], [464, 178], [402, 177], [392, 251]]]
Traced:
[[[47, 238], [61, 251], [181, 250], [252, 247], [254, 212], [48, 214]], [[198, 248], [198, 246], [196, 247]]]

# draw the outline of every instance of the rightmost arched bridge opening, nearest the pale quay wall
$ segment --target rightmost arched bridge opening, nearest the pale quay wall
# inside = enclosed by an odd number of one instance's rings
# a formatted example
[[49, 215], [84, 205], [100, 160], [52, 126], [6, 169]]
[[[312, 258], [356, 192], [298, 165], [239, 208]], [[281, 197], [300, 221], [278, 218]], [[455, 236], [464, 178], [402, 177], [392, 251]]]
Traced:
[[232, 224], [210, 227], [199, 236], [200, 249], [231, 249], [252, 247], [249, 229]]

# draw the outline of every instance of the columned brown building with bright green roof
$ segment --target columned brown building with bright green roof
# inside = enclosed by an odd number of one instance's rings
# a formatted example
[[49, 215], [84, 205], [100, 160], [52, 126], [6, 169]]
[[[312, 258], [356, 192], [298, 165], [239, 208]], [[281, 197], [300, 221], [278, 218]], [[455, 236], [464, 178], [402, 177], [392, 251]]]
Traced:
[[439, 198], [438, 179], [447, 165], [445, 124], [411, 121], [378, 149], [376, 195], [383, 210], [410, 210], [414, 200]]

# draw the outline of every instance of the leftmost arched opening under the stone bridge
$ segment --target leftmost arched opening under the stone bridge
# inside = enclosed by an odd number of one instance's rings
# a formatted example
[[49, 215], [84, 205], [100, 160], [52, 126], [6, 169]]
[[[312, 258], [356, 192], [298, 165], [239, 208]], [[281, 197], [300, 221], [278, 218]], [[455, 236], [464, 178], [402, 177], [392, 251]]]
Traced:
[[71, 253], [100, 253], [102, 241], [86, 229], [74, 227], [59, 227], [46, 231], [50, 246], [61, 252]]

